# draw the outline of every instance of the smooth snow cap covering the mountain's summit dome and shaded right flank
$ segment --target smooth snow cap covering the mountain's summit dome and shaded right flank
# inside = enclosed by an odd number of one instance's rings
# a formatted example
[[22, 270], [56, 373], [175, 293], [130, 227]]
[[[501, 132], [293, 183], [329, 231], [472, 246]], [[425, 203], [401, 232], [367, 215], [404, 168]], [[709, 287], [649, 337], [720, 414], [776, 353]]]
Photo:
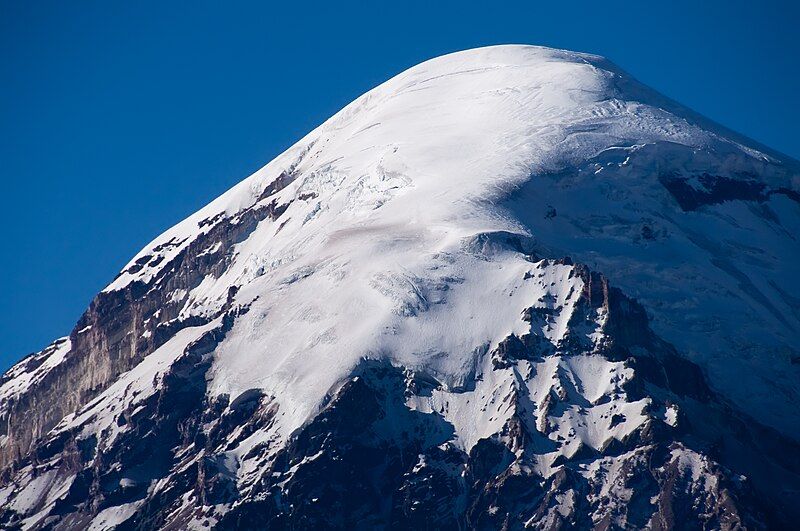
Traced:
[[[746, 144], [597, 56], [529, 46], [459, 52], [356, 99], [156, 238], [105, 290], [153, 279], [211, 229], [206, 220], [288, 204], [234, 246], [219, 278], [173, 294], [182, 316], [218, 311], [231, 286], [240, 287], [235, 302], [250, 305], [214, 353], [209, 393], [260, 388], [275, 397], [276, 432], [254, 435], [255, 444], [301, 426], [362, 359], [386, 359], [442, 382], [443, 392], [414, 407], [444, 411], [469, 448], [504, 420], [505, 393], [522, 389], [513, 374], [488, 376], [486, 352], [530, 332], [522, 314], [543, 304], [558, 312], [537, 333], [557, 345], [581, 288], [570, 266], [526, 253], [570, 255], [640, 298], [656, 331], [700, 363], [715, 389], [800, 435], [786, 354], [800, 339], [800, 292], [786, 282], [800, 273], [797, 205], [774, 196], [769, 215], [742, 202], [684, 213], [658, 181], [715, 171], [798, 182], [793, 162]], [[282, 175], [293, 180], [259, 199]], [[643, 239], [643, 224], [658, 238]], [[604, 318], [580, 330], [588, 345], [602, 340]], [[182, 331], [104, 395], [124, 395], [134, 380], [151, 386], [202, 331]], [[529, 369], [523, 391], [537, 405], [558, 382], [591, 402], [625, 374], [591, 356]], [[483, 387], [465, 389], [480, 371]], [[600, 447], [645, 421], [644, 403], [615, 405], [561, 411], [552, 435]], [[120, 407], [103, 398], [92, 415], [101, 408], [106, 422]], [[612, 428], [613, 413], [626, 420]]]

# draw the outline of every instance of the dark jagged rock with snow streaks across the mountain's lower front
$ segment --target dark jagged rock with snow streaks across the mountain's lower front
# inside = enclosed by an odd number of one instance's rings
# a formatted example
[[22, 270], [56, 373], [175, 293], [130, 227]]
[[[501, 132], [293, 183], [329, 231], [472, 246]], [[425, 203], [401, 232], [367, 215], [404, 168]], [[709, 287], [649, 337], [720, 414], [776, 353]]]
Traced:
[[[757, 529], [796, 518], [764, 482], [780, 471], [800, 485], [778, 457], [797, 448], [727, 407], [605, 277], [552, 263], [584, 286], [571, 333], [509, 336], [472, 389], [365, 360], [285, 441], [268, 435], [280, 416], [271, 397], [207, 393], [213, 351], [247, 311], [229, 309], [99, 438], [86, 436], [89, 417], [34, 444], [7, 472], [7, 499], [41, 478], [61, 494], [25, 511], [6, 503], [0, 523], [22, 528], [36, 513], [47, 529], [103, 515], [117, 529]], [[598, 316], [602, 338], [581, 337]], [[605, 376], [590, 384], [586, 371]], [[464, 400], [500, 421], [471, 446], [452, 417]], [[587, 426], [608, 438], [581, 435]]]

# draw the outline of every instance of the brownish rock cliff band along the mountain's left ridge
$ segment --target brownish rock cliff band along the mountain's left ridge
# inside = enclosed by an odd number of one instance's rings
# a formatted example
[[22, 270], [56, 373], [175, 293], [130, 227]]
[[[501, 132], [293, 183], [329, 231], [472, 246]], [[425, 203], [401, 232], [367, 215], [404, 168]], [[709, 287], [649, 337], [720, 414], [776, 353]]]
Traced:
[[[264, 199], [289, 181], [288, 176], [281, 180], [283, 184], [265, 192]], [[134, 281], [121, 290], [99, 293], [70, 334], [71, 346], [63, 361], [0, 403], [0, 436], [5, 436], [0, 445], [0, 471], [13, 466], [58, 421], [90, 402], [117, 376], [135, 367], [178, 331], [208, 323], [227, 311], [236, 287], [230, 288], [228, 301], [213, 313], [181, 310], [187, 294], [204, 278], [218, 277], [225, 270], [237, 243], [260, 222], [275, 221], [285, 208], [275, 201], [265, 202], [230, 218], [203, 220], [200, 225], [206, 227], [205, 232], [169, 262], [161, 263], [159, 252], [183, 242], [156, 246], [152, 254], [120, 273], [159, 266], [158, 274], [146, 283]], [[35, 371], [34, 362], [57, 346], [56, 343], [31, 356], [10, 372]]]

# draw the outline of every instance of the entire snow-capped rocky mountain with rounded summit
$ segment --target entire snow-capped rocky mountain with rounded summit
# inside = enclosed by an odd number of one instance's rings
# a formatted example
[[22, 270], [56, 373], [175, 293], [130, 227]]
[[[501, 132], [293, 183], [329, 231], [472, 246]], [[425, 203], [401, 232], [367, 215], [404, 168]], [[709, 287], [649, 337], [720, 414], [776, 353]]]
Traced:
[[790, 528], [799, 190], [601, 57], [422, 63], [3, 376], [0, 526]]

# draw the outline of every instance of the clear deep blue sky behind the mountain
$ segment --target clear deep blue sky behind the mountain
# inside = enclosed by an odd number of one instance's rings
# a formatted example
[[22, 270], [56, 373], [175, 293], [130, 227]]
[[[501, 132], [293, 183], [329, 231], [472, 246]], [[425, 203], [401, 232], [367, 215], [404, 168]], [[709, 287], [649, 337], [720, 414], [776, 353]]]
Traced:
[[388, 77], [529, 43], [605, 55], [800, 158], [800, 9], [744, 2], [0, 3], [0, 369], [154, 236]]

